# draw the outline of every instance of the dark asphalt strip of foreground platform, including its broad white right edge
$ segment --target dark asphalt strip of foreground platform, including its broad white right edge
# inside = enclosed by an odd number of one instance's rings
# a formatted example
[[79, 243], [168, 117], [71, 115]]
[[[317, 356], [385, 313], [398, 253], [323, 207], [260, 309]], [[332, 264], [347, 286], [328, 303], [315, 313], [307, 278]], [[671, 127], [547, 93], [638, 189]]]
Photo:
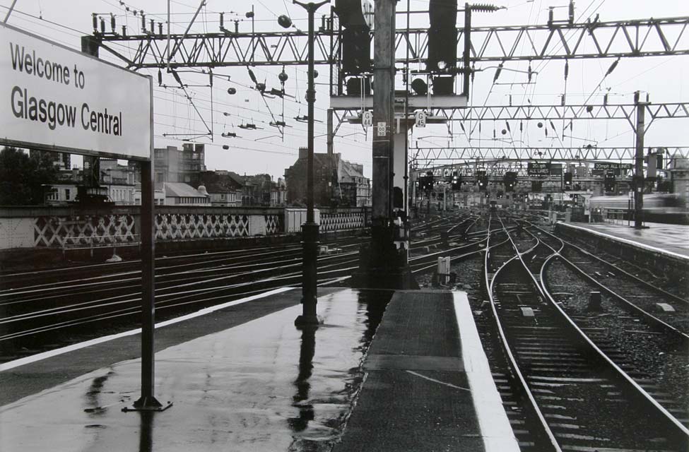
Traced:
[[519, 451], [464, 292], [397, 291], [334, 452]]

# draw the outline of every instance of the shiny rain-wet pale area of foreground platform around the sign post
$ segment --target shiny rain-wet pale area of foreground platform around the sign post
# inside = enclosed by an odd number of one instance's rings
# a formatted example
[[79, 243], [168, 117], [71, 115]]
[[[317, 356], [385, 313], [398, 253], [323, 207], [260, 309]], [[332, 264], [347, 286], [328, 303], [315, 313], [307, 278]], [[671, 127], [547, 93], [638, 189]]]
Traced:
[[155, 393], [175, 404], [165, 412], [121, 411], [139, 360], [18, 400], [0, 408], [1, 449], [328, 451], [390, 296], [338, 291], [319, 297], [316, 331], [293, 326], [296, 306], [158, 352]]

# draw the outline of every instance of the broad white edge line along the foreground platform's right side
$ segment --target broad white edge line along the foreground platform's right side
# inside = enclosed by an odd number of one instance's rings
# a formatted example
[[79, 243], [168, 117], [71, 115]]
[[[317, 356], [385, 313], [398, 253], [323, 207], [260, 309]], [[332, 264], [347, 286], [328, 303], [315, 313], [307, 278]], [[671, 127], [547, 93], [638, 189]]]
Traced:
[[486, 452], [519, 452], [519, 443], [514, 437], [510, 420], [507, 419], [502, 399], [490, 373], [488, 358], [485, 357], [481, 338], [473, 322], [469, 299], [465, 292], [452, 292], [454, 315], [461, 341], [461, 355], [464, 371], [469, 380], [473, 407], [476, 410], [478, 427]]

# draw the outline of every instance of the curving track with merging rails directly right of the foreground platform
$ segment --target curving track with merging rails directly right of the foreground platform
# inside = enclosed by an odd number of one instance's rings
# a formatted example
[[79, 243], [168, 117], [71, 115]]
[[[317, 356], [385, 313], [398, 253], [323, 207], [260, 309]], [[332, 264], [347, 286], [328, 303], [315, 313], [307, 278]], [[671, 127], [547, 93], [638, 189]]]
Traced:
[[[509, 384], [502, 383], [520, 392], [515, 397], [522, 404], [510, 418], [522, 448], [686, 450], [687, 429], [543, 292], [542, 270], [535, 269], [550, 257], [526, 263], [536, 249], [543, 249], [542, 242], [527, 239], [517, 245], [512, 237], [510, 242], [511, 257], [497, 252], [500, 246], [490, 246], [485, 283], [514, 376]], [[522, 418], [515, 418], [515, 412]]]

